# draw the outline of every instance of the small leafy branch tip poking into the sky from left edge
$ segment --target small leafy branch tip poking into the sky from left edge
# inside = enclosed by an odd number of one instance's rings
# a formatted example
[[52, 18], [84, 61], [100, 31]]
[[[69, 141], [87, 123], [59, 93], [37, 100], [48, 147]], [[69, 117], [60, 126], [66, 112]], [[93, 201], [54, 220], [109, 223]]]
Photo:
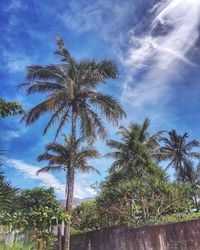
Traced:
[[5, 118], [17, 114], [25, 114], [25, 111], [18, 102], [8, 102], [0, 99], [0, 117]]

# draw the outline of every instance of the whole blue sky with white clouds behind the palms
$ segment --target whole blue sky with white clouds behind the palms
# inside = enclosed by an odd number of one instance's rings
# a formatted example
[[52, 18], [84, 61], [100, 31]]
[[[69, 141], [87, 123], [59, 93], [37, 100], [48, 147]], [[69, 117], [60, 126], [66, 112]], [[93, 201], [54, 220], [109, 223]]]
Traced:
[[[0, 2], [0, 97], [19, 101], [29, 110], [42, 96], [26, 97], [16, 88], [25, 82], [31, 64], [58, 63], [53, 54], [55, 37], [61, 36], [75, 58], [110, 58], [117, 62], [120, 77], [104, 92], [123, 105], [128, 119], [152, 121], [151, 132], [176, 129], [200, 138], [198, 0], [8, 0]], [[42, 164], [36, 158], [52, 141], [54, 129], [42, 136], [48, 117], [31, 127], [20, 117], [0, 121], [0, 147], [6, 150], [4, 170], [20, 188], [54, 186], [64, 196], [63, 174], [35, 176]], [[117, 128], [107, 125], [110, 137]], [[107, 152], [104, 142], [96, 147]], [[94, 195], [90, 185], [102, 180], [111, 163], [93, 162], [101, 176], [79, 174], [76, 197]]]

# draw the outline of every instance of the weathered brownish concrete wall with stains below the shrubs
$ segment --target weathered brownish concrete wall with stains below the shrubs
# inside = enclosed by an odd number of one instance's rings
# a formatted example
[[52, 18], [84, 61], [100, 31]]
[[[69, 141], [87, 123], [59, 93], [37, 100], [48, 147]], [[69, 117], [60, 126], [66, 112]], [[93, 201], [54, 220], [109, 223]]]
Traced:
[[74, 235], [71, 250], [200, 250], [200, 220]]

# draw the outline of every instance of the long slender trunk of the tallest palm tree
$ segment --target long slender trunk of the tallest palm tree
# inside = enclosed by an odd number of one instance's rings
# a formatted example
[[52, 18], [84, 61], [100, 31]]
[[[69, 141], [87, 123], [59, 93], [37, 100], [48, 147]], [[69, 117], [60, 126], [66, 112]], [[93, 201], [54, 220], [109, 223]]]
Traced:
[[[76, 112], [72, 109], [72, 134], [71, 134], [71, 150], [70, 163], [67, 173], [67, 200], [66, 212], [69, 218], [72, 213], [73, 195], [74, 195], [74, 152], [76, 143]], [[64, 229], [64, 250], [70, 249], [70, 223], [65, 223]]]

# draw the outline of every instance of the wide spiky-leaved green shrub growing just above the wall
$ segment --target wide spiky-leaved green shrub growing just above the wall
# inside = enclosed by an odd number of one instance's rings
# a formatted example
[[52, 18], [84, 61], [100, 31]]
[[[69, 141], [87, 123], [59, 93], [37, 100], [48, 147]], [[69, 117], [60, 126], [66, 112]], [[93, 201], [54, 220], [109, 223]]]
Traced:
[[191, 186], [170, 183], [156, 165], [150, 167], [150, 172], [143, 170], [142, 177], [117, 180], [118, 176], [110, 175], [102, 183], [97, 197], [97, 206], [108, 214], [110, 224], [118, 221], [143, 225], [150, 218], [176, 212], [188, 213], [192, 209]]

